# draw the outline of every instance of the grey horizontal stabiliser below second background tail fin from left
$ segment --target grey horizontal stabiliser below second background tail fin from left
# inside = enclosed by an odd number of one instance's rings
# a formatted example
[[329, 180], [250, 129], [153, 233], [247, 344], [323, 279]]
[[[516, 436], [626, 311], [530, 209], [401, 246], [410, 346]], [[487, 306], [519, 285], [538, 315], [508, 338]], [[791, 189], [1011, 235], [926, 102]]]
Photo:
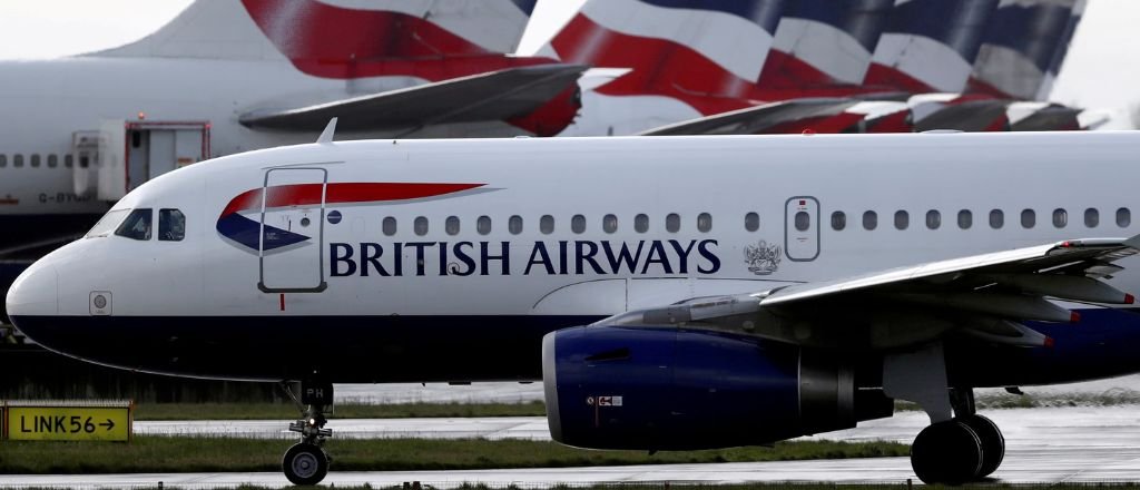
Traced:
[[834, 115], [858, 104], [858, 99], [805, 98], [747, 107], [708, 117], [682, 121], [642, 132], [642, 136], [757, 134], [776, 124]]

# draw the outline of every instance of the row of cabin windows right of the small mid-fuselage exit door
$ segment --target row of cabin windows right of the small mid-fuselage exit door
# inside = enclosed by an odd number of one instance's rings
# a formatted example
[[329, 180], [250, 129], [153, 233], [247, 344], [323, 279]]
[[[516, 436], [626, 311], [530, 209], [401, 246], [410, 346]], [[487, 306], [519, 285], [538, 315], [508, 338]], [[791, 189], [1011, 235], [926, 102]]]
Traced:
[[[1052, 211], [1049, 215], [1053, 228], [1066, 228], [1069, 226], [1069, 213], [1062, 207], [1058, 207]], [[1127, 207], [1118, 207], [1115, 212], [1116, 226], [1119, 228], [1127, 228], [1132, 224], [1132, 211]], [[942, 212], [937, 210], [930, 210], [926, 212], [926, 227], [930, 230], [936, 230], [942, 228], [943, 219]], [[990, 228], [1000, 230], [1005, 227], [1005, 212], [1002, 210], [991, 210], [987, 215]], [[1017, 219], [1025, 229], [1033, 229], [1037, 226], [1037, 212], [1031, 209], [1021, 210], [1017, 214]], [[968, 230], [974, 227], [974, 212], [970, 210], [961, 210], [956, 214], [958, 228]], [[1084, 210], [1083, 221], [1085, 228], [1097, 228], [1100, 226], [1100, 210], [1096, 207], [1089, 207]], [[895, 211], [891, 217], [891, 222], [895, 229], [905, 230], [911, 227], [911, 215], [906, 211]], [[865, 230], [874, 230], [879, 228], [879, 214], [874, 211], [864, 211], [862, 215], [862, 224]], [[831, 229], [836, 231], [842, 231], [847, 229], [847, 213], [842, 211], [836, 211], [831, 213]]]

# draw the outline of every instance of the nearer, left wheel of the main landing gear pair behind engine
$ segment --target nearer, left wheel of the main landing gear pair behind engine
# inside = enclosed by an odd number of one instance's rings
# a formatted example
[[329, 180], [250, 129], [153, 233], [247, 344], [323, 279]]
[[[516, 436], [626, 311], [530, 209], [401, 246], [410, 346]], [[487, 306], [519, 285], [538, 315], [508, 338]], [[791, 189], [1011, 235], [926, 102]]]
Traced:
[[958, 485], [974, 480], [983, 459], [978, 434], [959, 420], [931, 424], [911, 446], [911, 467], [927, 484]]

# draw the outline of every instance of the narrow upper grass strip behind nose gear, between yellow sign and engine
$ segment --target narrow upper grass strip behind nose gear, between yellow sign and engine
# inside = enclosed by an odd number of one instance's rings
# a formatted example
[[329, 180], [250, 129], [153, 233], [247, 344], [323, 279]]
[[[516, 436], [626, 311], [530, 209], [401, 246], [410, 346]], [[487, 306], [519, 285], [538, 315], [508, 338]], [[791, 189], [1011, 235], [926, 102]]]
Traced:
[[[291, 403], [139, 403], [136, 420], [290, 420]], [[343, 403], [329, 418], [524, 417], [544, 416], [540, 401], [527, 403]]]

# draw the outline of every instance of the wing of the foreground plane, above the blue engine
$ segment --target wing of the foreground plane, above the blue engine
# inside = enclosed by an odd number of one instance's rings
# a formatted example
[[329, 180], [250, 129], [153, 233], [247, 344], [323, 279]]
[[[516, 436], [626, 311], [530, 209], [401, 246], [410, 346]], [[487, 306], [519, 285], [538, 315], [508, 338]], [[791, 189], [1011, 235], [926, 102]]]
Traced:
[[1048, 301], [1131, 304], [1101, 281], [1140, 253], [1140, 236], [1096, 238], [923, 263], [845, 279], [697, 297], [595, 325], [710, 328], [825, 348], [891, 349], [963, 330], [997, 343], [1045, 345], [1023, 321], [1069, 322]]

